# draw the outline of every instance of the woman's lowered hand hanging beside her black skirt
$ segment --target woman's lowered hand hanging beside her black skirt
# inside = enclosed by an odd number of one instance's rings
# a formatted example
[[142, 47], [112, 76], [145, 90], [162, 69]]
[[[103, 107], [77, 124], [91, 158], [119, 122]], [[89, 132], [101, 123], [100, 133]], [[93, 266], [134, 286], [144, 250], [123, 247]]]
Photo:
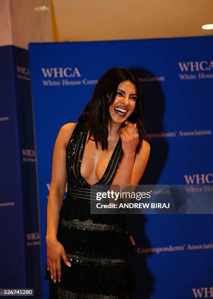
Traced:
[[48, 240], [47, 244], [47, 270], [50, 271], [51, 278], [56, 282], [57, 276], [61, 278], [61, 258], [64, 263], [71, 267], [64, 251], [64, 246], [57, 240]]

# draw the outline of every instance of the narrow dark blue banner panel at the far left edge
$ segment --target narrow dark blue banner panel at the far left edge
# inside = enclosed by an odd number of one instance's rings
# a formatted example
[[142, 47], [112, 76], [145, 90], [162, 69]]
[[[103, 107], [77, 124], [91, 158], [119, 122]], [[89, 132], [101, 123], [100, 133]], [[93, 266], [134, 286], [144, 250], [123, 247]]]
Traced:
[[41, 251], [28, 51], [0, 47], [0, 288], [41, 299]]

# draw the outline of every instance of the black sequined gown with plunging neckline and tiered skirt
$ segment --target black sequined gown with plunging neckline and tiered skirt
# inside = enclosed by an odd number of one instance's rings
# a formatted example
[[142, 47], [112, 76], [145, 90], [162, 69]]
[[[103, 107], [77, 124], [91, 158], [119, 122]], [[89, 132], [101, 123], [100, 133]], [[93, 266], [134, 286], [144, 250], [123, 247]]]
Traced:
[[[49, 280], [49, 299], [130, 299], [136, 277], [128, 264], [135, 251], [124, 214], [90, 214], [90, 185], [81, 175], [87, 130], [78, 123], [66, 148], [67, 197], [60, 211], [57, 238], [71, 267], [61, 260], [61, 281]], [[95, 185], [111, 185], [123, 156], [122, 143], [112, 153], [103, 177]]]

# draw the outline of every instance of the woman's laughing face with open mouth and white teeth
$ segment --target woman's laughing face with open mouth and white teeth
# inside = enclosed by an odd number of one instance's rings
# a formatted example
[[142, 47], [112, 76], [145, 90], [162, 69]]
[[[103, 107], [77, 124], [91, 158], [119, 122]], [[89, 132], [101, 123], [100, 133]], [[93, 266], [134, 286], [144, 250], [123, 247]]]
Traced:
[[126, 80], [118, 85], [117, 95], [109, 107], [113, 123], [124, 123], [133, 112], [137, 100], [136, 86]]

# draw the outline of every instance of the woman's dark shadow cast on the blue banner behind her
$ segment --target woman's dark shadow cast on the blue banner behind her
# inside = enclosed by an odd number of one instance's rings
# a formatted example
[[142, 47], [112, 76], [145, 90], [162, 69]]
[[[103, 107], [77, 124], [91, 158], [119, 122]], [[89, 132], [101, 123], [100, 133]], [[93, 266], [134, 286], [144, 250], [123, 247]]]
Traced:
[[[132, 66], [129, 68], [139, 79], [155, 77], [154, 74], [146, 69]], [[141, 80], [143, 82], [143, 80]], [[160, 133], [164, 131], [163, 117], [165, 110], [165, 97], [162, 87], [158, 81], [141, 83], [146, 101], [146, 129], [147, 133]], [[168, 156], [168, 143], [165, 138], [148, 139], [150, 144], [150, 155], [147, 168], [141, 178], [140, 185], [155, 185], [165, 166]], [[132, 237], [137, 257], [130, 259], [132, 269], [137, 276], [137, 294], [135, 299], [150, 299], [151, 293], [155, 293], [155, 277], [148, 268], [147, 258], [152, 253], [142, 253], [143, 248], [151, 248], [151, 242], [146, 235], [145, 225], [149, 219], [146, 215], [129, 215], [131, 222], [128, 224], [129, 234]]]

